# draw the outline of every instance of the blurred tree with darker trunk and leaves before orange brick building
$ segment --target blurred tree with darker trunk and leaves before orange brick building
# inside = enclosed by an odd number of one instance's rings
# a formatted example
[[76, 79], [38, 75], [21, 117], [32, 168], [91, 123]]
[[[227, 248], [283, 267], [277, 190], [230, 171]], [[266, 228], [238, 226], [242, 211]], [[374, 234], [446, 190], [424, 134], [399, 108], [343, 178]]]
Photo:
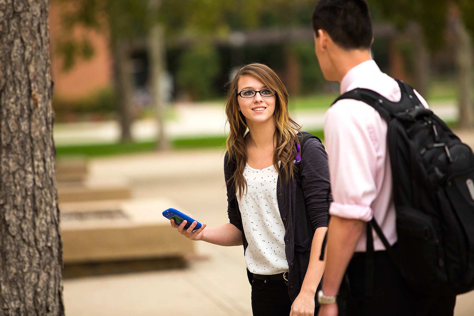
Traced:
[[118, 100], [121, 140], [130, 141], [133, 121], [131, 42], [146, 34], [149, 25], [147, 3], [144, 0], [54, 0], [62, 9], [62, 23], [66, 36], [58, 38], [58, 47], [64, 56], [64, 67], [73, 67], [78, 57], [90, 57], [93, 47], [87, 35], [82, 40], [71, 36], [77, 26], [93, 29], [109, 36], [112, 52], [114, 86]]

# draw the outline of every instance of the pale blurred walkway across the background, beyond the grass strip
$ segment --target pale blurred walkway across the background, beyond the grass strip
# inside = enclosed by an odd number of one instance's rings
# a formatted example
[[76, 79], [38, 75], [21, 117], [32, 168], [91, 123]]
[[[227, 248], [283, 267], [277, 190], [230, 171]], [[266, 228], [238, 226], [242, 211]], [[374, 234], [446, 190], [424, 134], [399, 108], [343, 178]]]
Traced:
[[[443, 120], [454, 120], [457, 107], [451, 103], [434, 103], [431, 107]], [[215, 104], [176, 104], [173, 119], [165, 123], [169, 137], [200, 137], [222, 135], [226, 129], [224, 105]], [[303, 125], [304, 130], [322, 129], [325, 110], [292, 111], [292, 117]], [[157, 122], [153, 119], [135, 121], [132, 136], [137, 140], [155, 139]], [[56, 124], [54, 130], [56, 145], [95, 144], [117, 142], [120, 127], [117, 121], [79, 122]]]

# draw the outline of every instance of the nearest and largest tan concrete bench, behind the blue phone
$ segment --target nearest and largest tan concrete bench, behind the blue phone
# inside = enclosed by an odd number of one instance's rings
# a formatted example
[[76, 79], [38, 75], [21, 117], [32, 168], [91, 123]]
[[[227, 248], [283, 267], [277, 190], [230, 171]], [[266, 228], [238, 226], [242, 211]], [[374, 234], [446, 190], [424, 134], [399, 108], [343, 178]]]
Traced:
[[62, 203], [64, 263], [193, 254], [194, 242], [162, 215], [169, 205], [165, 199]]

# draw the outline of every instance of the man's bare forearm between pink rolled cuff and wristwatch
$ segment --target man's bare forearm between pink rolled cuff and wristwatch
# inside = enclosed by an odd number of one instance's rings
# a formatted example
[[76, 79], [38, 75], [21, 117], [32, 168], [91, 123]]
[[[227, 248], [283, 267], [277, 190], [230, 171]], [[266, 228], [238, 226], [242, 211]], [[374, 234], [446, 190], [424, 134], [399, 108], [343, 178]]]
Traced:
[[326, 296], [335, 296], [356, 244], [364, 232], [365, 222], [331, 216], [328, 226], [323, 293]]

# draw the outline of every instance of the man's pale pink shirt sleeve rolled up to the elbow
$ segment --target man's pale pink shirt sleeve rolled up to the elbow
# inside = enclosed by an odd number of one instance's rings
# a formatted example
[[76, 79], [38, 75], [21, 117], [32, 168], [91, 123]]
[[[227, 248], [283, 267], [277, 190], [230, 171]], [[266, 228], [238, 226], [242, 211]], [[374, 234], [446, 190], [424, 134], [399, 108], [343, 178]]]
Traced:
[[378, 140], [372, 125], [376, 112], [358, 102], [341, 100], [326, 112], [324, 136], [333, 195], [329, 214], [368, 222], [377, 195]]

